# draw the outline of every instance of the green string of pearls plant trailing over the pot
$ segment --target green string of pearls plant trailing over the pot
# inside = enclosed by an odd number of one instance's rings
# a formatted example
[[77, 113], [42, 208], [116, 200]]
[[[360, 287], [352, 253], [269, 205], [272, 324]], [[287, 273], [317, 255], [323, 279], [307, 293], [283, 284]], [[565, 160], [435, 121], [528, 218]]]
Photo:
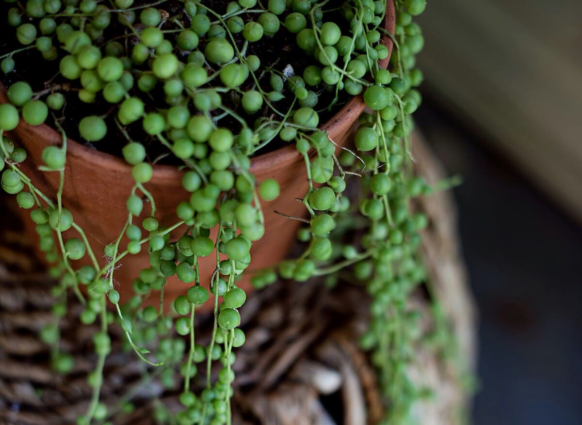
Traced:
[[[264, 233], [259, 199], [269, 201], [279, 194], [274, 180], [257, 187], [250, 158], [269, 144], [283, 143], [295, 144], [307, 167], [309, 188], [303, 203], [309, 219], [298, 235], [305, 250], [299, 258], [257, 274], [253, 284], [264, 287], [278, 275], [296, 281], [325, 276], [333, 286], [339, 272], [346, 270], [365, 284], [372, 298], [371, 323], [361, 345], [371, 351], [386, 396], [382, 423], [408, 423], [410, 408], [423, 392], [407, 376], [406, 365], [418, 340], [418, 315], [410, 311], [407, 299], [427, 277], [418, 253], [418, 231], [427, 219], [410, 212], [409, 200], [432, 190], [413, 175], [409, 152], [410, 114], [421, 102], [414, 87], [423, 79], [414, 55], [424, 41], [413, 16], [423, 12], [425, 0], [395, 1], [395, 34], [381, 26], [386, 0], [2, 3], [7, 9], [4, 24], [13, 28], [21, 44], [0, 52], [5, 76], [18, 69], [19, 57], [25, 54], [47, 64], [47, 69], [54, 64], [57, 71], [44, 74], [44, 65], [38, 68], [45, 87], [33, 88], [29, 81], [8, 87], [9, 103], [0, 105], [0, 170], [3, 190], [31, 210], [40, 248], [55, 263], [51, 273], [60, 278], [53, 291], [61, 299], [54, 306], [55, 322], [41, 332], [42, 340], [53, 347], [58, 372], [67, 373], [73, 366], [72, 357], [58, 344], [58, 318], [66, 315], [69, 290], [85, 306], [80, 321], [100, 324], [93, 337], [97, 364], [88, 377], [93, 398], [77, 422], [112, 423], [107, 421], [115, 412], [100, 402], [100, 392], [111, 350], [108, 330], [117, 321], [128, 347], [155, 366], [164, 385], [171, 388], [177, 378], [182, 381], [183, 410], [172, 421], [231, 423], [234, 349], [245, 340], [238, 326], [246, 294], [237, 287], [237, 278], [249, 266], [251, 245]], [[388, 56], [380, 43], [384, 35], [394, 45], [389, 70], [378, 65]], [[292, 64], [292, 73], [283, 67], [285, 57], [250, 54], [255, 43], [276, 37], [287, 37], [306, 60]], [[361, 93], [368, 109], [360, 116], [356, 151], [336, 156], [335, 144], [317, 130], [320, 115]], [[105, 105], [104, 113], [84, 116], [75, 131], [97, 148], [113, 134], [122, 135], [123, 158], [133, 166], [127, 222], [104, 253], [93, 252], [61, 199], [67, 160], [62, 113], [73, 101]], [[62, 145], [47, 147], [42, 154], [42, 170], [60, 176], [56, 199], [43, 194], [22, 172], [19, 164], [27, 153], [4, 134], [20, 120], [32, 126], [48, 121], [62, 133]], [[183, 187], [191, 193], [169, 227], [158, 224], [155, 199], [144, 187], [152, 177], [152, 147], [162, 157], [179, 161]], [[317, 155], [312, 159], [313, 151]], [[361, 185], [354, 202], [342, 195], [346, 180]], [[148, 198], [149, 207], [141, 195]], [[139, 223], [136, 216], [144, 208], [151, 209], [151, 216]], [[172, 240], [171, 231], [184, 224], [182, 237]], [[217, 227], [213, 240], [210, 229]], [[63, 232], [69, 228], [80, 237], [65, 240]], [[352, 230], [364, 233], [357, 244], [342, 245], [342, 235]], [[126, 246], [121, 242], [124, 234], [130, 240]], [[150, 267], [136, 276], [136, 295], [120, 305], [116, 265], [143, 249], [150, 255]], [[211, 282], [201, 282], [198, 259], [213, 252], [215, 273]], [[109, 259], [104, 267], [97, 261], [103, 254]], [[84, 256], [93, 265], [75, 270], [71, 261]], [[191, 284], [173, 300], [175, 312], [164, 312], [162, 301], [159, 308], [144, 306], [143, 299], [152, 292], [163, 297], [166, 278], [173, 275]], [[80, 290], [82, 285], [87, 291]], [[194, 326], [194, 314], [204, 303], [214, 305], [214, 332], [206, 347], [197, 344]], [[194, 392], [198, 376], [203, 388]], [[169, 422], [170, 416], [158, 406], [159, 422]]]

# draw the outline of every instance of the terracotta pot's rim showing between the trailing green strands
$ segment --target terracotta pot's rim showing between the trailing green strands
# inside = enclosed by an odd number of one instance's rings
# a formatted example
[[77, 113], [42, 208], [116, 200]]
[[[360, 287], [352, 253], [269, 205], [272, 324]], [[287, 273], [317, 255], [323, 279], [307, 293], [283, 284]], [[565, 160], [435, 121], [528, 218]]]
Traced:
[[[384, 16], [384, 22], [382, 27], [384, 27], [390, 33], [394, 33], [395, 28], [395, 6], [393, 0], [388, 0], [386, 2], [386, 13]], [[392, 55], [393, 42], [388, 35], [384, 35], [381, 38], [382, 44], [388, 48], [388, 57], [386, 59], [379, 60], [378, 63], [382, 68], [388, 66], [389, 59]], [[0, 81], [0, 102], [6, 101], [5, 97], [6, 87]], [[338, 113], [333, 115], [325, 124], [320, 126], [320, 130], [327, 131], [329, 134], [333, 133], [333, 129], [337, 123], [342, 122], [345, 119], [349, 119], [350, 116], [360, 114], [364, 111], [365, 105], [363, 100], [363, 94], [359, 94], [350, 99]], [[59, 134], [54, 128], [50, 127], [48, 124], [41, 124], [40, 126], [31, 126], [20, 120], [17, 128], [14, 131], [18, 131], [23, 128], [30, 130], [30, 133], [45, 134], [45, 141], [49, 145], [59, 144], [62, 140], [61, 134]], [[101, 152], [95, 148], [88, 147], [87, 145], [81, 144], [80, 142], [74, 141], [67, 137], [67, 153], [69, 155], [76, 156], [77, 158], [85, 159], [87, 162], [97, 162], [105, 169], [115, 169], [118, 173], [130, 174], [132, 166], [127, 164], [122, 158], [113, 155], [112, 153]], [[275, 149], [275, 151], [262, 153], [261, 155], [251, 158], [250, 170], [253, 173], [267, 172], [274, 163], [293, 163], [296, 160], [302, 158], [302, 155], [297, 152], [293, 144], [286, 145], [282, 148]], [[161, 180], [166, 180], [176, 176], [178, 172], [178, 166], [175, 165], [152, 165], [153, 176], [152, 179], [160, 178]]]

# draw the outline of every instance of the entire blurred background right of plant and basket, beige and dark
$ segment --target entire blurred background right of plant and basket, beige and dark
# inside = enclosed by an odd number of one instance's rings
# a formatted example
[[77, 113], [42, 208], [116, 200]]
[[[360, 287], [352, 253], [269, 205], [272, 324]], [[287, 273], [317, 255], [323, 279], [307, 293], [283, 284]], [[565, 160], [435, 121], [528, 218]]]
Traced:
[[475, 425], [582, 423], [582, 2], [427, 0], [418, 126], [480, 310]]

